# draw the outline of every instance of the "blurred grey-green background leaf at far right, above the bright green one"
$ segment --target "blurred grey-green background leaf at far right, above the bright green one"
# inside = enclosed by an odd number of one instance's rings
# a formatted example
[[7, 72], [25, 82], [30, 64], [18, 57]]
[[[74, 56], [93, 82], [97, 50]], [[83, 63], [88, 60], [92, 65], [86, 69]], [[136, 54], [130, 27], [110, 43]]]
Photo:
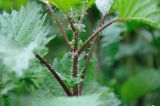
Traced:
[[141, 56], [155, 53], [154, 47], [150, 45], [153, 41], [152, 33], [141, 29], [136, 35], [135, 41], [119, 44], [119, 50], [116, 54], [117, 60], [134, 55]]

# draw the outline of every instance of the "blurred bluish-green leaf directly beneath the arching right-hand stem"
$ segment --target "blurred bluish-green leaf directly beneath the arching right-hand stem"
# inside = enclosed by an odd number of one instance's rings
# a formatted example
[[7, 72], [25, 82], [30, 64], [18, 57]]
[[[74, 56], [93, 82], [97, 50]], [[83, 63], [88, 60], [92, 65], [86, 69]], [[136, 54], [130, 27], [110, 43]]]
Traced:
[[121, 33], [126, 30], [123, 24], [113, 24], [102, 32], [101, 39], [101, 64], [106, 67], [112, 65], [115, 61], [118, 51], [118, 44], [121, 40]]

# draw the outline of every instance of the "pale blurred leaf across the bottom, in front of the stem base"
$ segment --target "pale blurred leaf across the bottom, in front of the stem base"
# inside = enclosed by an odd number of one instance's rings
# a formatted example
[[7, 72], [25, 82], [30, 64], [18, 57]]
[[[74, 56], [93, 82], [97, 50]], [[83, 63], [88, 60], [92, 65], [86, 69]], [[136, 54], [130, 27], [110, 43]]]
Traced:
[[106, 89], [79, 97], [42, 97], [32, 101], [30, 106], [119, 106], [120, 104], [115, 94]]

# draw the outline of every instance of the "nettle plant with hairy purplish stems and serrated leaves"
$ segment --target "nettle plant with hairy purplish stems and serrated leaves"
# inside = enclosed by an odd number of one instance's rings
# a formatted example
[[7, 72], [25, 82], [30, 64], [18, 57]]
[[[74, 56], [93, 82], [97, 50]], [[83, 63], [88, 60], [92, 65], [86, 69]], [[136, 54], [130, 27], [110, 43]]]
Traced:
[[[64, 55], [62, 60], [55, 59], [52, 65], [44, 59], [48, 52], [45, 46], [55, 36], [48, 36], [51, 28], [46, 24], [48, 18], [47, 13], [43, 14], [42, 12], [42, 4], [30, 1], [19, 11], [13, 10], [10, 14], [3, 12], [0, 15], [1, 73], [7, 72], [3, 76], [6, 77], [9, 73], [14, 72], [18, 78], [21, 78], [31, 70], [37, 70], [37, 73], [40, 70], [48, 70], [63, 88], [66, 95], [74, 96], [73, 98], [48, 99], [50, 105], [62, 106], [63, 103], [65, 103], [65, 106], [67, 103], [70, 106], [84, 106], [86, 104], [87, 106], [119, 105], [119, 100], [107, 88], [97, 87], [103, 88], [97, 90], [94, 87], [94, 82], [96, 82], [93, 74], [95, 57], [92, 57], [92, 54], [94, 48], [101, 32], [114, 23], [138, 21], [160, 28], [160, 10], [156, 1], [41, 0], [41, 3], [46, 5], [53, 21], [62, 33], [69, 50], [68, 53]], [[83, 19], [87, 15], [87, 10], [94, 4], [101, 13], [101, 19], [93, 33], [85, 41], [82, 41], [82, 33], [87, 32]], [[60, 13], [68, 21], [68, 28], [63, 26], [55, 9], [60, 10]], [[71, 39], [66, 30], [72, 33]], [[109, 37], [112, 35], [106, 36], [108, 36], [108, 39], [113, 38]], [[2, 82], [7, 83], [9, 77], [7, 78]], [[7, 86], [10, 87], [3, 87], [1, 94], [5, 94], [15, 87]], [[93, 90], [87, 92], [87, 88]], [[83, 93], [84, 89], [86, 91]], [[39, 104], [42, 105], [43, 103], [39, 101]]]

